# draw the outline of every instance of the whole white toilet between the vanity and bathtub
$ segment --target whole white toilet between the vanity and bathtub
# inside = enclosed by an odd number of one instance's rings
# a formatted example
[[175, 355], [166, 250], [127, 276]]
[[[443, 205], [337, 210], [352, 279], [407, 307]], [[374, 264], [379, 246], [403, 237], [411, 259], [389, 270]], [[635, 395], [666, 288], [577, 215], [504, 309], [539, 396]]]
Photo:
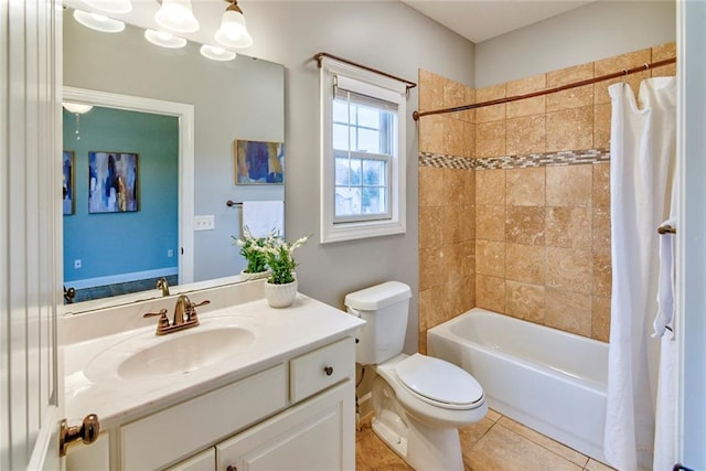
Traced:
[[481, 385], [440, 358], [402, 353], [411, 291], [388, 281], [345, 297], [351, 314], [366, 321], [356, 362], [374, 365], [373, 431], [418, 471], [463, 470], [458, 427], [488, 413]]

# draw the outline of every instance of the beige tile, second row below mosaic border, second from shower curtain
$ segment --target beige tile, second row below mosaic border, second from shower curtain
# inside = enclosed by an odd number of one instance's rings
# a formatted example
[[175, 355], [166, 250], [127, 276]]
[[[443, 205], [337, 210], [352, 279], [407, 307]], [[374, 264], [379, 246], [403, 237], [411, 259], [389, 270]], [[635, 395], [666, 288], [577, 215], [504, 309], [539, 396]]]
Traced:
[[593, 243], [591, 213], [590, 207], [547, 207], [547, 246], [590, 250]]

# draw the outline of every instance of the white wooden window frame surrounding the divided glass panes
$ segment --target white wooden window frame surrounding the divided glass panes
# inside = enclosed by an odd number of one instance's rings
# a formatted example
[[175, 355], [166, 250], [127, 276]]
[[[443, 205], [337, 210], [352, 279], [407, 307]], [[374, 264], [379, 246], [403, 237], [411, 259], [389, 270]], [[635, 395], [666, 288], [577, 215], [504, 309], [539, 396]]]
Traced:
[[[355, 217], [335, 221], [335, 156], [333, 150], [333, 99], [336, 83], [345, 89], [397, 105], [396, 139], [389, 159], [389, 217]], [[351, 88], [350, 88], [351, 87]], [[329, 244], [379, 237], [406, 232], [406, 98], [407, 87], [403, 82], [336, 61], [321, 60], [320, 67], [320, 117], [321, 117], [321, 165], [320, 165], [320, 240]]]

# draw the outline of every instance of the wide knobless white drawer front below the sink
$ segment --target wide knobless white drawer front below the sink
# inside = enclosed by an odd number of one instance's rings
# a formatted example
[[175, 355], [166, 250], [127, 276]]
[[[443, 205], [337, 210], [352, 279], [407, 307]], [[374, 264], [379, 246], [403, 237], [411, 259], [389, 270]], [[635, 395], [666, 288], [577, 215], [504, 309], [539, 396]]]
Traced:
[[162, 468], [286, 406], [287, 367], [277, 365], [121, 427], [121, 468]]

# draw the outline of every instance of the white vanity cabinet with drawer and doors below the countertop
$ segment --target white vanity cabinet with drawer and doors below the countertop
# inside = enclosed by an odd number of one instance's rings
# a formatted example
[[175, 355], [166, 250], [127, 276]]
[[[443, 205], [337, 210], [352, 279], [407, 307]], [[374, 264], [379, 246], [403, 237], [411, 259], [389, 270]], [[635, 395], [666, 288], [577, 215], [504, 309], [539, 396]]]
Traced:
[[[120, 426], [109, 468], [354, 470], [354, 378], [345, 336]], [[67, 470], [105, 469], [96, 464], [74, 459]]]

